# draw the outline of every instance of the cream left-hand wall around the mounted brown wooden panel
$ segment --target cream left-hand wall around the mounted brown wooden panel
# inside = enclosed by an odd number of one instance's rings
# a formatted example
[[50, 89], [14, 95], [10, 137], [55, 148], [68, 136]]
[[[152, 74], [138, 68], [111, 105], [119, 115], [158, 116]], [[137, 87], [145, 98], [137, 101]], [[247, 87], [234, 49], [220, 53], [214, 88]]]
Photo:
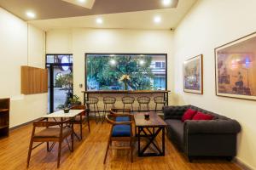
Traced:
[[0, 98], [10, 98], [10, 127], [47, 112], [47, 94], [20, 94], [20, 65], [44, 68], [44, 31], [0, 8]]

